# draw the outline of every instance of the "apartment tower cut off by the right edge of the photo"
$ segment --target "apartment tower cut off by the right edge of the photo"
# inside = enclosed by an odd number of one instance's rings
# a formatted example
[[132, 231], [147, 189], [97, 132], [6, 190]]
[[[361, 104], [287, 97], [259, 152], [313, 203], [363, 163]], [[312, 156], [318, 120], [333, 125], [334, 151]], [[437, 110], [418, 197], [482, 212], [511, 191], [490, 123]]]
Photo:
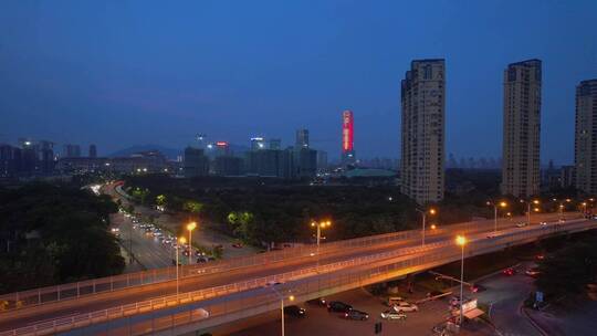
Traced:
[[574, 165], [576, 189], [597, 193], [597, 80], [576, 86]]

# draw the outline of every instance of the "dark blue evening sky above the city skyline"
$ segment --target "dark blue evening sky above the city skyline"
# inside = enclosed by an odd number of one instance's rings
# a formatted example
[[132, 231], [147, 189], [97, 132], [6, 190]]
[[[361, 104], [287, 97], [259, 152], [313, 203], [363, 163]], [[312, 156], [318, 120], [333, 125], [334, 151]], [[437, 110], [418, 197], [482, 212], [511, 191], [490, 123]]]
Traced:
[[[425, 3], [418, 3], [425, 2]], [[500, 156], [502, 72], [543, 60], [542, 160], [569, 162], [574, 91], [597, 77], [597, 1], [0, 2], [0, 141], [182, 147], [264, 135], [399, 156], [400, 80], [446, 57], [447, 153]]]

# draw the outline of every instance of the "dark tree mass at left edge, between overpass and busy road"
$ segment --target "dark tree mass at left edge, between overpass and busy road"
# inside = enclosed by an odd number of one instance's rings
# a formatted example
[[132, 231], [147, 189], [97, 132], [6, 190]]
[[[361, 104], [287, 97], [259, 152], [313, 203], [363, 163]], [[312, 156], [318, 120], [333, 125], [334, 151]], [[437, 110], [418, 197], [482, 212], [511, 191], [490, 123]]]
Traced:
[[122, 273], [109, 214], [117, 206], [73, 185], [0, 188], [0, 293]]

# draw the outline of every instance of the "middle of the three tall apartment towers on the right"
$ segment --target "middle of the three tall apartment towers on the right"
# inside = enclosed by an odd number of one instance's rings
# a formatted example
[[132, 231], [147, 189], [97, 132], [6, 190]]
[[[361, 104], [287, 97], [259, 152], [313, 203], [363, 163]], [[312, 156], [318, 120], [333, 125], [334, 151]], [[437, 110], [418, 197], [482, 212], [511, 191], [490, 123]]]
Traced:
[[503, 195], [540, 192], [541, 67], [528, 60], [504, 71]]

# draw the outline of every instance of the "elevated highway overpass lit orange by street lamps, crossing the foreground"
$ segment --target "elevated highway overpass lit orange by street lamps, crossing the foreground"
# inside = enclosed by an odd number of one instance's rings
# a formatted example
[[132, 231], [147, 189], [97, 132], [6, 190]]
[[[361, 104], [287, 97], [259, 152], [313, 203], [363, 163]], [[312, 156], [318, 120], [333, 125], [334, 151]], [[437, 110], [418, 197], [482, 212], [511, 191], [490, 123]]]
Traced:
[[471, 240], [470, 256], [595, 228], [594, 221], [575, 220], [577, 213], [566, 218], [557, 223], [557, 214], [534, 216], [551, 223], [526, 228], [513, 225], [524, 219], [502, 220], [491, 239], [491, 220], [450, 225], [428, 232], [425, 246], [416, 230], [326, 243], [318, 267], [311, 245], [184, 266], [178, 295], [174, 267], [13, 293], [0, 297], [11, 302], [10, 309], [0, 313], [0, 330], [6, 330], [0, 336], [179, 335], [275, 309], [277, 294], [264, 287], [271, 282], [282, 283], [277, 291], [306, 301], [459, 260], [455, 234]]

